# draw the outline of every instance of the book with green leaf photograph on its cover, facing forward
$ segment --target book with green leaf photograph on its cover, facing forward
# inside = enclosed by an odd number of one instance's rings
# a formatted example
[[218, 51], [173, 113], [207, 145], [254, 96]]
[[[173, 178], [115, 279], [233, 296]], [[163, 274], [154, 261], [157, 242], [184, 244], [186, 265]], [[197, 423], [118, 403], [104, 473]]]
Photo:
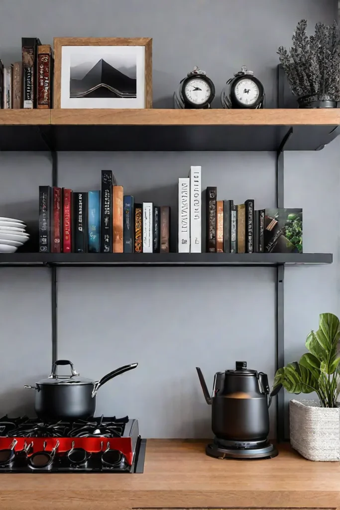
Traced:
[[302, 209], [266, 209], [266, 253], [302, 253]]

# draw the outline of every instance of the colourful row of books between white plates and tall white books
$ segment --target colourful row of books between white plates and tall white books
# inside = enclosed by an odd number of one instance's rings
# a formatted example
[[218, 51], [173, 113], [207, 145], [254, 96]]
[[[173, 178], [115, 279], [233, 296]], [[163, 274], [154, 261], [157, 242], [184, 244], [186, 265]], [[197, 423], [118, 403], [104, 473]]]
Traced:
[[101, 191], [40, 186], [39, 251], [169, 252], [170, 207], [135, 203], [111, 170], [101, 171]]

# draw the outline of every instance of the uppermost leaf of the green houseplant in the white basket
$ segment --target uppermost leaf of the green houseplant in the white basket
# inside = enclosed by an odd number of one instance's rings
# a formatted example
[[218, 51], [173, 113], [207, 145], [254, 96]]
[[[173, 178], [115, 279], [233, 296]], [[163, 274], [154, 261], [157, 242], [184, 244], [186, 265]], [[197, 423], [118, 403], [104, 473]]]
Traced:
[[333, 314], [321, 314], [318, 331], [310, 331], [306, 347], [320, 361], [320, 369], [333, 374], [340, 362], [337, 345], [340, 340], [340, 321]]

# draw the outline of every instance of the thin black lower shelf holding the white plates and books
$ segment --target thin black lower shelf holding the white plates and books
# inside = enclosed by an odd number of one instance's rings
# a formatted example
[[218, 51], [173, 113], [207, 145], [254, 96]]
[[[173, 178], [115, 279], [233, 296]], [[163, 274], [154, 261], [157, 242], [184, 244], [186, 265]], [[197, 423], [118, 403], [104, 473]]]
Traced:
[[272, 266], [331, 264], [331, 253], [0, 253], [3, 266]]

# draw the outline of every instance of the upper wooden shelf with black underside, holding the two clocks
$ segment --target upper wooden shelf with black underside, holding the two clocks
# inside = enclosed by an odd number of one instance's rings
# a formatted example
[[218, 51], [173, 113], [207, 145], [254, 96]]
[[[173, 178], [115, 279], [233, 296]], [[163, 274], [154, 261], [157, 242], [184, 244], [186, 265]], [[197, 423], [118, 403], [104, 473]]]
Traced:
[[0, 150], [318, 150], [340, 109], [1, 110]]

